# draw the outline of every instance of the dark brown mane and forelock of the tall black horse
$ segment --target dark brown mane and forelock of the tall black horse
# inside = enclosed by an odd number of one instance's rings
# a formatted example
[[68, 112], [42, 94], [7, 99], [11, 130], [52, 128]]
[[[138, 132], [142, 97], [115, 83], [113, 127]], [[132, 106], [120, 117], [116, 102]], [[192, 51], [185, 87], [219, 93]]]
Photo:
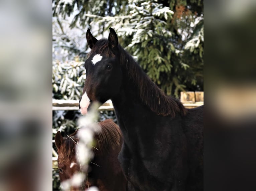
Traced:
[[[181, 115], [186, 114], [187, 109], [177, 98], [164, 94], [120, 44], [118, 44], [117, 48], [120, 54], [120, 64], [122, 67], [126, 67], [128, 76], [137, 87], [139, 97], [144, 104], [146, 104], [153, 112], [163, 116], [175, 117], [176, 113], [180, 113]], [[96, 51], [106, 57], [114, 56], [114, 53], [108, 46], [108, 40], [105, 38], [98, 40], [88, 54], [88, 57]]]

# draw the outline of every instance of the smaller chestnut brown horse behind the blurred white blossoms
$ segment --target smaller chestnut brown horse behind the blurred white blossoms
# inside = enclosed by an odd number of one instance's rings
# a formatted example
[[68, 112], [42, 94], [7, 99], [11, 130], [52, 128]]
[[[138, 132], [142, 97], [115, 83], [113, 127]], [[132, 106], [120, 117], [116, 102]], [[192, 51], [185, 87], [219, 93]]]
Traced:
[[[119, 127], [107, 119], [99, 123], [100, 132], [94, 134], [96, 142], [92, 147], [94, 158], [91, 160], [88, 177], [81, 187], [72, 190], [84, 190], [97, 186], [100, 191], [123, 191], [126, 189], [126, 179], [117, 159], [123, 142]], [[79, 161], [76, 158], [76, 144], [79, 143], [77, 130], [68, 137], [62, 137], [60, 131], [55, 135], [55, 144], [58, 151], [58, 168], [60, 182], [70, 179], [80, 171]]]

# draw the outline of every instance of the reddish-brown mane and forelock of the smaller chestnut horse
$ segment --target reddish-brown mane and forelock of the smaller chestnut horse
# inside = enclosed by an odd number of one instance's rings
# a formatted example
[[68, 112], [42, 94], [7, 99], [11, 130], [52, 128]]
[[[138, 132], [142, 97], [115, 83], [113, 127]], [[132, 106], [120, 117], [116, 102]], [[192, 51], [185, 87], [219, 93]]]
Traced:
[[[121, 131], [112, 119], [101, 121], [99, 125], [101, 130], [94, 133], [95, 144], [92, 145], [92, 150], [95, 155], [108, 153], [111, 149], [115, 149], [122, 144]], [[67, 137], [63, 137], [63, 144], [58, 149], [59, 163], [71, 161], [75, 156], [76, 145], [79, 142], [79, 138], [77, 137], [78, 130], [79, 129]]]

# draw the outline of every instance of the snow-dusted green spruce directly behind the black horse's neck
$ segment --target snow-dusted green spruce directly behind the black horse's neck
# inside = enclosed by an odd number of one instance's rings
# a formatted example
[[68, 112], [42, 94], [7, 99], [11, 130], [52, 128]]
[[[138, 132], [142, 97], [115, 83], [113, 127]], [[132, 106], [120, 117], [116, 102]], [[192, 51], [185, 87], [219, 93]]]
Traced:
[[168, 7], [157, 1], [130, 0], [131, 19], [126, 26], [118, 29], [119, 36], [132, 37], [126, 49], [136, 56], [138, 63], [147, 75], [167, 94], [171, 94], [170, 75], [172, 33], [166, 29], [173, 15]]

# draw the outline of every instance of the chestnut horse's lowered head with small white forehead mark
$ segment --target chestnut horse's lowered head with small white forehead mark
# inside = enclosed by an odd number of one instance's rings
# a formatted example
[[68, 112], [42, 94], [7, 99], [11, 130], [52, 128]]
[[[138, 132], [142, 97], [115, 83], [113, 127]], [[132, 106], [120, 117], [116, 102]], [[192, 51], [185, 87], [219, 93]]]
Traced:
[[62, 137], [60, 131], [55, 135], [55, 144], [58, 148], [58, 170], [60, 182], [70, 179], [79, 172], [80, 165], [76, 159], [77, 138]]

